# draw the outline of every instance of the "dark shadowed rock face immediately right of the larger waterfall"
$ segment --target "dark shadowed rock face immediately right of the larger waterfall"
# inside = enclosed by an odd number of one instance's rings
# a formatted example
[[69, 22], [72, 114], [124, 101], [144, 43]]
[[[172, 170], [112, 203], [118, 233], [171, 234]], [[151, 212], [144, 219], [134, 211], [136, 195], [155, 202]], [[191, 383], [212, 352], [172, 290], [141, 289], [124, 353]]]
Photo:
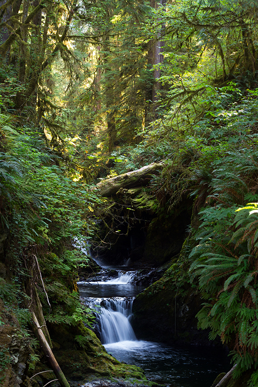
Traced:
[[166, 274], [139, 294], [133, 304], [136, 333], [166, 343], [211, 345], [208, 332], [197, 328], [202, 300], [191, 288], [178, 291]]

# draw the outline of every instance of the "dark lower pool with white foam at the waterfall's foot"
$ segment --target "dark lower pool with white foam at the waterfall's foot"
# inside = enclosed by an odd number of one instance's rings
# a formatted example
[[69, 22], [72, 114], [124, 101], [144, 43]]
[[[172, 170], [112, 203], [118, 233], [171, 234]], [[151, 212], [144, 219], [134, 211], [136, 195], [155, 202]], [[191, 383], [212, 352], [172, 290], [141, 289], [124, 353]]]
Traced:
[[207, 347], [172, 347], [146, 341], [105, 344], [117, 360], [144, 369], [149, 380], [169, 387], [211, 387], [221, 372], [231, 368], [221, 350]]

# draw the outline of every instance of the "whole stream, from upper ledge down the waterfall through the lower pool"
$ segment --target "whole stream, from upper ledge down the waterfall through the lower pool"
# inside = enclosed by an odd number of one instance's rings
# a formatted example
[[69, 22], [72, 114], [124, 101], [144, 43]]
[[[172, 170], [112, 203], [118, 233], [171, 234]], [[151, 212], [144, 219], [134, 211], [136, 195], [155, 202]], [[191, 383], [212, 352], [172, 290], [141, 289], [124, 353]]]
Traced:
[[148, 379], [167, 387], [210, 387], [231, 368], [219, 348], [173, 347], [137, 338], [130, 324], [132, 305], [145, 287], [132, 283], [136, 272], [123, 270], [115, 278], [78, 282], [81, 299], [98, 311], [98, 330], [108, 353], [141, 367]]

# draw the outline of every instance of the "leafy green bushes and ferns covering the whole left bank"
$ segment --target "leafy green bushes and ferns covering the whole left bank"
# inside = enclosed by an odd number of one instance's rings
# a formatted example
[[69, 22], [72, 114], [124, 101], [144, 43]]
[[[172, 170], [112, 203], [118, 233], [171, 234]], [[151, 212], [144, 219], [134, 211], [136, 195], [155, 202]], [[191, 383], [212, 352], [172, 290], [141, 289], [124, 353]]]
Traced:
[[[48, 322], [91, 325], [93, 316], [80, 303], [75, 282], [89, 258], [76, 245], [84, 246], [91, 238], [92, 207], [101, 201], [89, 185], [74, 181], [66, 168], [56, 165], [58, 158], [40, 133], [18, 125], [14, 130], [9, 115], [0, 119], [0, 203], [5, 203], [0, 213], [2, 229], [9, 234], [5, 265], [12, 273], [12, 280], [0, 278], [0, 297], [26, 337], [35, 282]], [[33, 355], [31, 369], [37, 361]]]

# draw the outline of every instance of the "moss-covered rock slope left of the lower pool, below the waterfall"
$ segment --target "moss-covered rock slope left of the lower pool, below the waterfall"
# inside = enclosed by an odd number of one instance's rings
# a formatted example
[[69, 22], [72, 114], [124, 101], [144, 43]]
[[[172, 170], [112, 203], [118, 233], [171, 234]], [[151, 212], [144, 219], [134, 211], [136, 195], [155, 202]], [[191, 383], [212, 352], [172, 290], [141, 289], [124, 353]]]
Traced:
[[[52, 325], [50, 335], [55, 343], [53, 353], [68, 379], [87, 381], [94, 377], [147, 379], [141, 368], [120, 363], [109, 355], [93, 331], [83, 324], [76, 327]], [[83, 344], [76, 336], [84, 338]]]

